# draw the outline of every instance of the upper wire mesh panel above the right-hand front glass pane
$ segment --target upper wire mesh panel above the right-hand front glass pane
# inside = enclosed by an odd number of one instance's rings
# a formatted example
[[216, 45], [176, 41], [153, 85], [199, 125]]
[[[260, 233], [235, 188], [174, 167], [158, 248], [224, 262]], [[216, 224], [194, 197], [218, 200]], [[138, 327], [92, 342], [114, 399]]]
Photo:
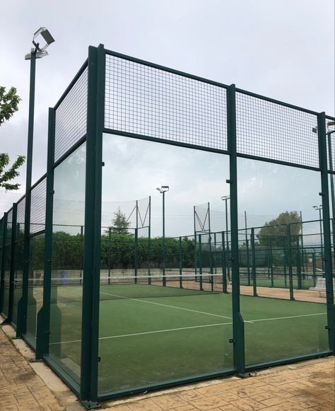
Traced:
[[236, 93], [237, 152], [319, 168], [317, 116]]

